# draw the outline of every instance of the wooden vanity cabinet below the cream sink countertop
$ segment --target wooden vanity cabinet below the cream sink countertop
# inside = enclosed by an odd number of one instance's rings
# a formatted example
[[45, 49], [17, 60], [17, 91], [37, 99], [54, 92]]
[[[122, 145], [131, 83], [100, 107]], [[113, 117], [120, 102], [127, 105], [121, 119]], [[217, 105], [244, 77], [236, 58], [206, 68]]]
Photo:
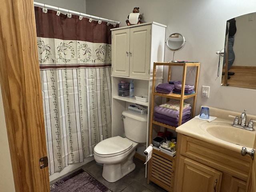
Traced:
[[177, 144], [175, 192], [245, 192], [249, 156], [183, 134]]

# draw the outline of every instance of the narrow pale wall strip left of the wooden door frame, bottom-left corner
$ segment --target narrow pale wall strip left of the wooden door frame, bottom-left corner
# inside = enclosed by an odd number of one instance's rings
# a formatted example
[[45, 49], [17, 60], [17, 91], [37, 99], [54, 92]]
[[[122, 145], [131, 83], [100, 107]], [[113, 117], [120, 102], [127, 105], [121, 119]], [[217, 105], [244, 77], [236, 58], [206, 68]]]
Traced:
[[11, 156], [4, 118], [4, 106], [0, 88], [0, 191], [15, 192]]

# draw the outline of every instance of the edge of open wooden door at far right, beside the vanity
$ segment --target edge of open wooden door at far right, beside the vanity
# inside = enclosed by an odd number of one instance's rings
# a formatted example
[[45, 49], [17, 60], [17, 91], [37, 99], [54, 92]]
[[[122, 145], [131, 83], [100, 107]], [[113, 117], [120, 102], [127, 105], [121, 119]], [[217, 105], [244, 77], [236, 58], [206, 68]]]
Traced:
[[[254, 149], [256, 149], [256, 136], [254, 139]], [[246, 192], [255, 192], [256, 191], [256, 155], [251, 163], [251, 172], [249, 173], [247, 184], [246, 184]]]

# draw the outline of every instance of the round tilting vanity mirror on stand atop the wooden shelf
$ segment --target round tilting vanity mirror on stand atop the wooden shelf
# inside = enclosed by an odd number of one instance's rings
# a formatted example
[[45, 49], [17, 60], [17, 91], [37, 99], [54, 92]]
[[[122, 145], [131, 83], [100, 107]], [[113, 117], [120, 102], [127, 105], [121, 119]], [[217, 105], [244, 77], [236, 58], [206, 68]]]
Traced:
[[171, 62], [177, 62], [174, 60], [175, 52], [181, 50], [185, 45], [185, 38], [180, 33], [173, 33], [170, 34], [168, 39], [165, 42], [166, 47], [168, 50], [173, 51], [173, 60]]

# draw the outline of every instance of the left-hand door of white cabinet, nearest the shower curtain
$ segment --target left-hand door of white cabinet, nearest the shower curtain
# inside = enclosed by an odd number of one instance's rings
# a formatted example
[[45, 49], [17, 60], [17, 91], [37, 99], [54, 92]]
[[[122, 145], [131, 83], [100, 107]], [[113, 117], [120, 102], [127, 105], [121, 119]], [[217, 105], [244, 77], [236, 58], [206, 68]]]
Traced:
[[129, 76], [130, 29], [112, 31], [112, 74]]

